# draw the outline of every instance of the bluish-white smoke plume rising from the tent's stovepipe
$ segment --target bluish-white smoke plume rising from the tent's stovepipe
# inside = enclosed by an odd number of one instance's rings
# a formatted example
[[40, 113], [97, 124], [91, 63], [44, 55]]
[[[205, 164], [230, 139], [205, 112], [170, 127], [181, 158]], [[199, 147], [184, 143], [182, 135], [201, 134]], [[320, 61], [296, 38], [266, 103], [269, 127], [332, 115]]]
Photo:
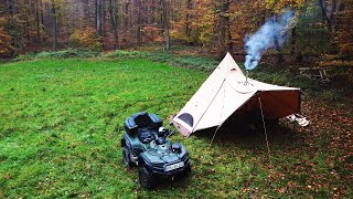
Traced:
[[[275, 19], [279, 19], [277, 22]], [[270, 48], [275, 46], [275, 42], [281, 46], [287, 40], [287, 31], [295, 23], [293, 11], [287, 9], [287, 11], [279, 17], [271, 17], [266, 23], [253, 35], [246, 35], [245, 38], [245, 67], [246, 70], [253, 70], [257, 66], [261, 59], [261, 54]], [[277, 41], [276, 41], [277, 39]], [[276, 43], [277, 44], [277, 43]]]

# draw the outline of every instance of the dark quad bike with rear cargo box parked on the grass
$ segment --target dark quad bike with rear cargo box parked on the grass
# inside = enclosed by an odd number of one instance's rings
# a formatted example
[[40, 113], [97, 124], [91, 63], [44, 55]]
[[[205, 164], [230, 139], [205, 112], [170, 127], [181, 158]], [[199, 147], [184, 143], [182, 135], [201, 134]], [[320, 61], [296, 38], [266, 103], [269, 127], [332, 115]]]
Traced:
[[151, 113], [136, 113], [124, 123], [121, 139], [124, 164], [139, 167], [141, 187], [152, 189], [158, 179], [185, 177], [191, 172], [189, 154], [182, 144], [172, 144], [173, 135], [163, 121]]

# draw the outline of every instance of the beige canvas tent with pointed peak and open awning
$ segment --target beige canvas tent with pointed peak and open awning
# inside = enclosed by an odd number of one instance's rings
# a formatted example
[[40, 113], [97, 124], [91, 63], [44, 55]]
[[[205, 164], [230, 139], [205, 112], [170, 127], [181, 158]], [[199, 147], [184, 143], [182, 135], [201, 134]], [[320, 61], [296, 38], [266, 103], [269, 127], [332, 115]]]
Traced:
[[300, 111], [300, 88], [277, 86], [247, 78], [229, 53], [171, 119], [180, 133], [221, 126], [234, 113], [263, 109], [267, 118]]

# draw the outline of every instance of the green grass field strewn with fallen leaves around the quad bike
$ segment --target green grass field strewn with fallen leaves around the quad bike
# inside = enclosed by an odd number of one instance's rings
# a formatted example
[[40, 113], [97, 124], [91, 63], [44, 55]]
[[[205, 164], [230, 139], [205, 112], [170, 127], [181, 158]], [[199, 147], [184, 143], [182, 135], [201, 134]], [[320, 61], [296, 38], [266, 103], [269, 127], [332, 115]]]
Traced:
[[[350, 151], [345, 146], [327, 147], [334, 129], [313, 136], [314, 119], [306, 130], [286, 125], [269, 130], [271, 164], [261, 135], [220, 133], [210, 148], [210, 134], [188, 139], [176, 135], [172, 140], [186, 146], [192, 175], [162, 182], [153, 191], [141, 189], [138, 170], [126, 168], [121, 160], [124, 121], [139, 111], [167, 121], [207, 75], [139, 59], [1, 64], [0, 197], [353, 195], [352, 171], [346, 167], [353, 159]], [[303, 108], [311, 107], [304, 102]], [[347, 159], [341, 161], [342, 156]]]

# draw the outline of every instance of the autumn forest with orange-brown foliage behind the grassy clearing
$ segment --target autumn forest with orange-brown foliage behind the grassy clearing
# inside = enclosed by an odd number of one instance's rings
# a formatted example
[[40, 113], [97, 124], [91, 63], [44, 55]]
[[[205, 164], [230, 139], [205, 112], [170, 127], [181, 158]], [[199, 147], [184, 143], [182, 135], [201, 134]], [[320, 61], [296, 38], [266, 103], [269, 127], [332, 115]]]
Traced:
[[[111, 51], [200, 46], [206, 55], [244, 55], [244, 40], [285, 9], [289, 40], [269, 54], [296, 62], [351, 65], [351, 0], [1, 0], [0, 57], [67, 48]], [[276, 19], [272, 19], [276, 20]], [[330, 62], [330, 63], [329, 63]]]

